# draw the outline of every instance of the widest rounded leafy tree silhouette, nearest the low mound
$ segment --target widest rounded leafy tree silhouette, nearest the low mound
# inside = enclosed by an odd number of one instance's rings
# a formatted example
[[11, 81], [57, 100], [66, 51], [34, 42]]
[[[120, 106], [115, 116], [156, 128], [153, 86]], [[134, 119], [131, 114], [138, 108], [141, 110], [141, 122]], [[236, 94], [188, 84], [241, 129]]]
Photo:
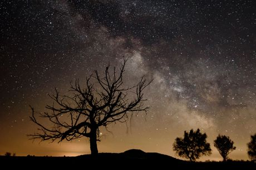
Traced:
[[180, 157], [188, 158], [190, 161], [195, 161], [200, 156], [210, 155], [210, 143], [206, 142], [206, 133], [201, 133], [199, 128], [195, 132], [191, 129], [184, 132], [184, 138], [177, 137], [173, 143], [173, 150]]

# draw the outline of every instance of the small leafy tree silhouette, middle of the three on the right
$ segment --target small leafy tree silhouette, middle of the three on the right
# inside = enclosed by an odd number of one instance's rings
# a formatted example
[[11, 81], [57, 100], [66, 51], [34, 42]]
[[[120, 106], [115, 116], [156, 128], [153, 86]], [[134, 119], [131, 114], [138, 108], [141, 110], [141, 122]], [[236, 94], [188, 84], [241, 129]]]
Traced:
[[223, 161], [227, 161], [228, 154], [235, 150], [234, 142], [230, 140], [229, 136], [219, 135], [214, 140], [214, 147], [217, 148]]

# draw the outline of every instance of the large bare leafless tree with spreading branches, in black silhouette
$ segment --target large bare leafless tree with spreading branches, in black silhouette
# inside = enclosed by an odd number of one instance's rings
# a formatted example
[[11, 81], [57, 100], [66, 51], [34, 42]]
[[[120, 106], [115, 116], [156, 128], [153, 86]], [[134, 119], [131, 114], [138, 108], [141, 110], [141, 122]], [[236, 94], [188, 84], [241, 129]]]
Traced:
[[[123, 75], [127, 59], [121, 65], [120, 71], [114, 67], [112, 74], [107, 66], [103, 78], [98, 71], [86, 78], [85, 87], [80, 86], [78, 80], [71, 83], [71, 96], [61, 96], [56, 90], [55, 95], [50, 95], [53, 105], [46, 108], [51, 113], [40, 114], [53, 124], [53, 128], [42, 125], [32, 109], [30, 119], [40, 126], [40, 132], [28, 135], [31, 139], [71, 141], [80, 137], [90, 138], [91, 154], [98, 153], [97, 141], [100, 137], [99, 127], [113, 122], [126, 122], [127, 114], [134, 111], [147, 111], [149, 107], [143, 105], [144, 94], [142, 91], [151, 81], [147, 82], [142, 76], [140, 81], [131, 87], [125, 87]], [[118, 72], [118, 73], [117, 73]], [[92, 83], [92, 80], [94, 81]]]

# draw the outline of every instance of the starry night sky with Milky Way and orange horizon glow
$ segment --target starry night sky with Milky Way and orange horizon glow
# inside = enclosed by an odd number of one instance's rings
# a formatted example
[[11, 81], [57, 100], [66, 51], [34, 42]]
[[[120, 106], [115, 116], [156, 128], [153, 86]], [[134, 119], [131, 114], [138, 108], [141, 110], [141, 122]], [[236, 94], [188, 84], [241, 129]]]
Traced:
[[[233, 159], [248, 159], [256, 132], [255, 1], [1, 1], [0, 154], [76, 156], [86, 138], [48, 143], [36, 131], [29, 105], [45, 111], [48, 94], [76, 78], [130, 57], [125, 77], [154, 79], [145, 91], [147, 115], [102, 129], [100, 152], [138, 148], [176, 156], [172, 144], [200, 128], [213, 140], [235, 142]], [[47, 122], [45, 122], [47, 125]]]

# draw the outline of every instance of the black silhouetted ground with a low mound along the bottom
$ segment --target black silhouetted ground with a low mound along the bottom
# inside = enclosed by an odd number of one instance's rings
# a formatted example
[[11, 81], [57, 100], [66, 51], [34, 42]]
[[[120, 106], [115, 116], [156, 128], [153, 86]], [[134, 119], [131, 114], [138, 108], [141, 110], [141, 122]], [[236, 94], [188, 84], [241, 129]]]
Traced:
[[256, 169], [250, 161], [187, 162], [160, 153], [129, 150], [77, 157], [0, 156], [1, 169]]

